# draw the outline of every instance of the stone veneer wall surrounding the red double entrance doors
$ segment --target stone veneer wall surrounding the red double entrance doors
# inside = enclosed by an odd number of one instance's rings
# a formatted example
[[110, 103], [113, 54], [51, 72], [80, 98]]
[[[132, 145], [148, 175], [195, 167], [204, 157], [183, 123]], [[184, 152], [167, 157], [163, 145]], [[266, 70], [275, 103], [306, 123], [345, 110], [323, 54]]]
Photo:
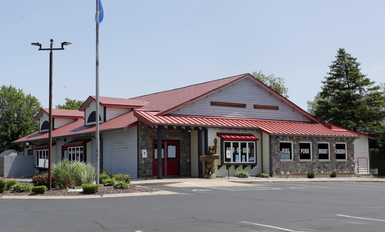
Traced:
[[[147, 149], [147, 177], [154, 176], [152, 173], [152, 142], [154, 139], [157, 139], [156, 132], [156, 128], [149, 128], [146, 124], [139, 121], [139, 178], [146, 176], [142, 149]], [[176, 130], [172, 127], [162, 129], [162, 140], [167, 139], [179, 140], [179, 176], [191, 176], [190, 133], [188, 130]]]

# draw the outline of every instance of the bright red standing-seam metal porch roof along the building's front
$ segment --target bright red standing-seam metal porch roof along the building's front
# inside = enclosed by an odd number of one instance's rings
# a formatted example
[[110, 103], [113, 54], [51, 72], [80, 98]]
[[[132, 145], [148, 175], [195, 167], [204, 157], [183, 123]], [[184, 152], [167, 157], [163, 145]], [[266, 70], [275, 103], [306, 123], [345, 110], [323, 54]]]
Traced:
[[134, 110], [134, 116], [150, 125], [175, 125], [195, 127], [224, 127], [259, 129], [272, 135], [303, 135], [327, 137], [358, 137], [350, 131], [335, 131], [323, 124], [282, 120], [244, 119], [233, 117], [155, 115], [156, 111]]

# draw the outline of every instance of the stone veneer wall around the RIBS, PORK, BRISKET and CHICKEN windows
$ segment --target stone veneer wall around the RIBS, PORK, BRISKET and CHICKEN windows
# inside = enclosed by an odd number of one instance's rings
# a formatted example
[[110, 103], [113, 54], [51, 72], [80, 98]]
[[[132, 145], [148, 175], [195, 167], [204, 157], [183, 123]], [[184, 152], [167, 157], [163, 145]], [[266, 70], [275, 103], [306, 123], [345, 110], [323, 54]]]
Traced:
[[[280, 161], [280, 141], [293, 141], [293, 161]], [[312, 142], [313, 161], [300, 162], [300, 141]], [[330, 161], [318, 161], [318, 142], [330, 142]], [[347, 161], [336, 161], [335, 143], [346, 142]], [[354, 139], [329, 137], [271, 136], [271, 164], [273, 175], [354, 174]]]

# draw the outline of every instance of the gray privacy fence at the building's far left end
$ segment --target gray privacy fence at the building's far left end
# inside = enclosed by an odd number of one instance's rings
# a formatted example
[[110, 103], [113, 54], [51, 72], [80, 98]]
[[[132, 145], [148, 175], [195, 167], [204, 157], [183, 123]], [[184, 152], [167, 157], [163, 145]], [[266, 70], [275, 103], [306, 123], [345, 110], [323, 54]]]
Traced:
[[4, 178], [24, 177], [34, 172], [33, 155], [4, 156]]

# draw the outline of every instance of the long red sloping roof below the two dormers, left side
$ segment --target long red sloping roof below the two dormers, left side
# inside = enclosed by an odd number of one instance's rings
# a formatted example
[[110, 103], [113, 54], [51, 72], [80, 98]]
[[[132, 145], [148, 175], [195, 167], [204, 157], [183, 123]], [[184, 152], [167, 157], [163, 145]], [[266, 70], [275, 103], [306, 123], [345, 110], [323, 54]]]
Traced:
[[[127, 130], [137, 125], [137, 118], [133, 112], [125, 113], [119, 117], [108, 120], [99, 125], [100, 132], [108, 130]], [[64, 125], [52, 131], [52, 138], [66, 137], [71, 135], [82, 135], [95, 132], [95, 125], [84, 125], [84, 119], [76, 120], [70, 124]], [[27, 135], [13, 143], [30, 142], [35, 140], [48, 139], [48, 132], [35, 132]]]

